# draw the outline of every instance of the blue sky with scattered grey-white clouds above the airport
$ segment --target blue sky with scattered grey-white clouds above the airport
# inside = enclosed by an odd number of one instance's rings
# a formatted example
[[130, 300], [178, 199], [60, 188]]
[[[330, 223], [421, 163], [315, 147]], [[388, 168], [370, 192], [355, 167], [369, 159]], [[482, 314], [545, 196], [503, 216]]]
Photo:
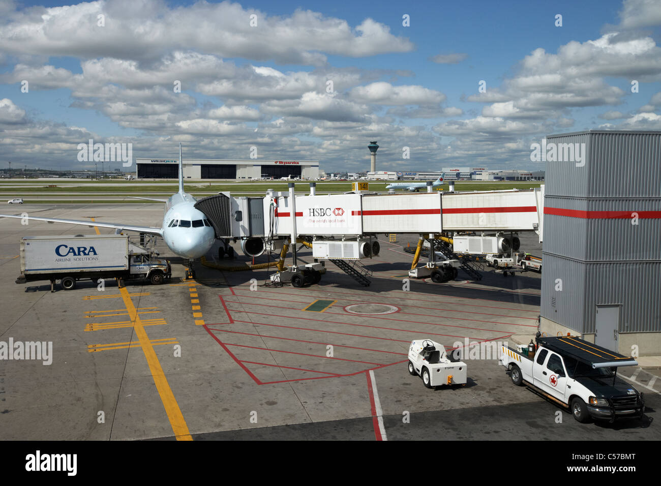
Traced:
[[383, 170], [543, 169], [546, 134], [661, 129], [658, 1], [61, 5], [0, 2], [3, 158], [28, 166], [77, 167], [95, 138], [328, 171], [366, 169], [379, 140]]

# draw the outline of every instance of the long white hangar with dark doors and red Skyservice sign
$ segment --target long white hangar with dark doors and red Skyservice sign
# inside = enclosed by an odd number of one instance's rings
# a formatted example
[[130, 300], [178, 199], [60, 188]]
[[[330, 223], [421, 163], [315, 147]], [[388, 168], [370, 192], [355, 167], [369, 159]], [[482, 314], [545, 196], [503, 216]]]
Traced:
[[[136, 158], [136, 177], [178, 179], [178, 159]], [[184, 179], [317, 179], [317, 160], [184, 159]]]

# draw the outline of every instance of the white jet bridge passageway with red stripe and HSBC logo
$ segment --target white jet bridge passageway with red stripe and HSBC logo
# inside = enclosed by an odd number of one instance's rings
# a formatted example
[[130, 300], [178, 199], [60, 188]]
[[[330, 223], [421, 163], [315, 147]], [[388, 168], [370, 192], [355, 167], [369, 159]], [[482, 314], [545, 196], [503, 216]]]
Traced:
[[[297, 195], [295, 206], [299, 235], [536, 231], [542, 241], [543, 187], [457, 194]], [[264, 235], [290, 235], [291, 216], [288, 195], [266, 196]]]

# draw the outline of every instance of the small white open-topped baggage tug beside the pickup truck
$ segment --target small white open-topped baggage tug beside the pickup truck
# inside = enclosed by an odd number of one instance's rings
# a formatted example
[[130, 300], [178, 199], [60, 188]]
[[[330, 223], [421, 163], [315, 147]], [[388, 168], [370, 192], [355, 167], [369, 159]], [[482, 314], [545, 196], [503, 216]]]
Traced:
[[408, 373], [421, 376], [428, 388], [440, 385], [466, 384], [466, 364], [452, 362], [446, 348], [431, 339], [414, 339], [408, 348]]

